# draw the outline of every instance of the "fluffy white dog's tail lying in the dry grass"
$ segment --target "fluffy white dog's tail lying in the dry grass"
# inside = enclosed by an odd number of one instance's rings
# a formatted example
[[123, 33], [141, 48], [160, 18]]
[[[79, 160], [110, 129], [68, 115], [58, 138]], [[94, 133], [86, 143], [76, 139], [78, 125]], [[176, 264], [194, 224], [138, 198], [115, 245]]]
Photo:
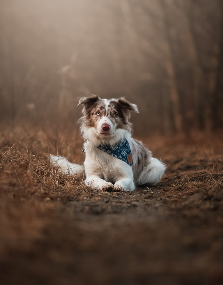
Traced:
[[77, 178], [82, 178], [84, 176], [84, 166], [71, 163], [63, 156], [49, 155], [49, 162], [53, 167], [58, 167], [60, 172], [64, 175], [75, 175]]

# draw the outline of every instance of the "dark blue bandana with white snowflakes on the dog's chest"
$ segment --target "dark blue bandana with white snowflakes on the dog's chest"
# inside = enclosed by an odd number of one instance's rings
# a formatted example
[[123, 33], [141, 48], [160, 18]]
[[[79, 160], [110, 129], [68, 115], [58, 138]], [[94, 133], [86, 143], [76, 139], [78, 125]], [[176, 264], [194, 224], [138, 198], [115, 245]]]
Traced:
[[100, 146], [97, 146], [97, 148], [99, 148], [100, 150], [118, 159], [123, 160], [128, 165], [133, 164], [132, 153], [131, 153], [131, 149], [130, 149], [127, 139], [120, 144], [115, 144], [114, 146], [109, 146], [109, 145], [101, 146], [100, 145]]

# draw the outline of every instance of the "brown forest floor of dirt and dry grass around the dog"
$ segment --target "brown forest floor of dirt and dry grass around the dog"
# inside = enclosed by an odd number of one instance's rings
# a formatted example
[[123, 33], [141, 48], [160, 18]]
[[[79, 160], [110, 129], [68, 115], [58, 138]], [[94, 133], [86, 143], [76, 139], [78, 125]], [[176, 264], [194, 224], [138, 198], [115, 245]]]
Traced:
[[223, 284], [223, 134], [141, 138], [164, 177], [105, 192], [45, 160], [78, 132], [34, 129], [0, 132], [1, 285]]

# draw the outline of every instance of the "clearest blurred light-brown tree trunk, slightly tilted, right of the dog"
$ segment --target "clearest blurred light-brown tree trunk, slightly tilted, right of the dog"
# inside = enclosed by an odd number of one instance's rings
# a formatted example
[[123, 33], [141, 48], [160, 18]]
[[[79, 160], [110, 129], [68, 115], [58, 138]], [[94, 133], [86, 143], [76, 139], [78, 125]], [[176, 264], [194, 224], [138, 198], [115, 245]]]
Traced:
[[169, 18], [167, 16], [167, 3], [165, 0], [160, 0], [162, 18], [164, 23], [164, 31], [166, 34], [166, 42], [164, 44], [164, 50], [166, 53], [165, 58], [165, 69], [168, 76], [169, 88], [170, 88], [170, 100], [172, 104], [172, 112], [174, 119], [174, 128], [176, 132], [182, 132], [182, 114], [180, 112], [180, 100], [176, 84], [176, 74], [174, 69], [174, 54], [171, 46], [171, 36], [170, 36], [170, 24]]

